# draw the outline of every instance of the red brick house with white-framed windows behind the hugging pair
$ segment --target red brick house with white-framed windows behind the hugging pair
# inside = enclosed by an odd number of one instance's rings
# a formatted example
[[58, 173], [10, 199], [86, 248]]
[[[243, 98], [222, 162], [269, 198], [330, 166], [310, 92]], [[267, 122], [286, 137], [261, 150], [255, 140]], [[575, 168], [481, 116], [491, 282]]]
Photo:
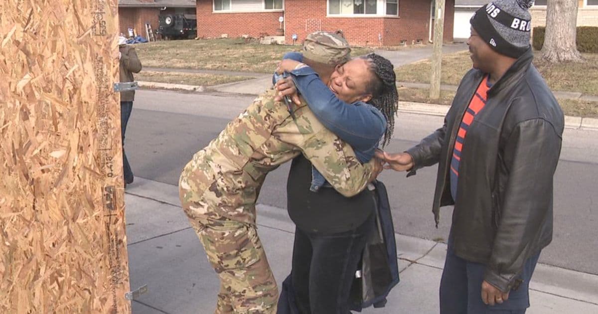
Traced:
[[[434, 0], [197, 0], [197, 36], [284, 33], [301, 44], [307, 33], [343, 31], [354, 45], [397, 45], [432, 38]], [[284, 22], [279, 22], [282, 17]], [[444, 41], [453, 40], [454, 0], [446, 0]], [[281, 27], [282, 26], [282, 27]]]

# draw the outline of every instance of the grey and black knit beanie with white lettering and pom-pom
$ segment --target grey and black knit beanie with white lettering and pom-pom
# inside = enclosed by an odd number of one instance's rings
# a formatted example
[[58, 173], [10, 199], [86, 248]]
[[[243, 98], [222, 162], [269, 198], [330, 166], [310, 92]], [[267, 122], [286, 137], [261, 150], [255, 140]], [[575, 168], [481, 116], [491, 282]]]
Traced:
[[493, 0], [469, 21], [493, 50], [518, 58], [529, 49], [533, 0]]

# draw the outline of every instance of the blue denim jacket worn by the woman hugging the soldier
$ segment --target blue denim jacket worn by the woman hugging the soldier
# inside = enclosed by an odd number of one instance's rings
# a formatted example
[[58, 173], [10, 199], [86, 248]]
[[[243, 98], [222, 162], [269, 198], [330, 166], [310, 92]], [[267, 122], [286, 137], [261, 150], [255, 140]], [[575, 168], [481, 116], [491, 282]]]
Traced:
[[[286, 53], [283, 59], [303, 61], [303, 55], [297, 52]], [[324, 126], [338, 138], [353, 147], [355, 156], [365, 163], [374, 156], [380, 138], [386, 130], [386, 118], [374, 106], [364, 102], [346, 103], [320, 80], [318, 74], [309, 66], [290, 72], [313, 114]], [[273, 83], [282, 75], [274, 74]], [[318, 191], [329, 185], [324, 176], [312, 166], [312, 185], [310, 190]]]

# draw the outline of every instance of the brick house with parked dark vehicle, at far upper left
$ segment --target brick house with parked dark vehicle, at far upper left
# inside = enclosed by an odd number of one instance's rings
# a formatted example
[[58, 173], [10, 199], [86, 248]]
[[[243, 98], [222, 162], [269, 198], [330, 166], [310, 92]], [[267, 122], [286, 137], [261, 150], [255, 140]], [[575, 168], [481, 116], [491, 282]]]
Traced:
[[195, 0], [118, 0], [118, 25], [127, 36], [129, 28], [135, 28], [138, 35], [147, 38], [145, 23], [158, 29], [160, 14], [195, 14]]

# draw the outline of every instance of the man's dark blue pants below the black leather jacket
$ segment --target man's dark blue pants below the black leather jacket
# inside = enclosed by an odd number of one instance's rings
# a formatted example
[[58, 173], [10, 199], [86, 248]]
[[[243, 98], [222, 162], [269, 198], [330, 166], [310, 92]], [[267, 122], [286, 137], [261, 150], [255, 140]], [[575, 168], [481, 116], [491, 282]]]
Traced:
[[[450, 237], [449, 237], [450, 238]], [[538, 263], [540, 253], [530, 257], [523, 267], [516, 290], [511, 289], [509, 299], [502, 304], [488, 306], [481, 298], [481, 285], [486, 265], [472, 263], [454, 255], [449, 239], [449, 248], [440, 280], [441, 314], [524, 314], [529, 307], [529, 281]]]

